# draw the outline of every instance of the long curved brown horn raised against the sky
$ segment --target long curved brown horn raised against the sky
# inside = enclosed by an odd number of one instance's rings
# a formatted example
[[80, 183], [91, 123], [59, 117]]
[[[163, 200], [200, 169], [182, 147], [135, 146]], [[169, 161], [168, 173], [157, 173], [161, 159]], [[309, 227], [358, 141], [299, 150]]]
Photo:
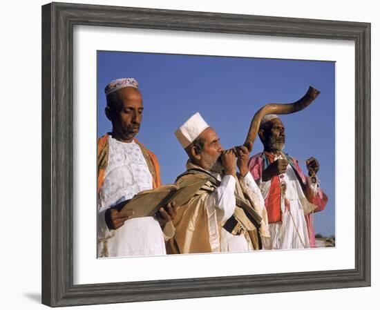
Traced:
[[260, 127], [261, 119], [267, 114], [292, 114], [303, 110], [309, 106], [321, 92], [312, 86], [309, 87], [305, 95], [298, 101], [292, 104], [265, 104], [263, 108], [260, 108], [252, 119], [251, 126], [249, 126], [247, 139], [245, 139], [244, 146], [246, 146], [249, 152], [252, 151], [254, 141], [256, 139], [258, 129]]

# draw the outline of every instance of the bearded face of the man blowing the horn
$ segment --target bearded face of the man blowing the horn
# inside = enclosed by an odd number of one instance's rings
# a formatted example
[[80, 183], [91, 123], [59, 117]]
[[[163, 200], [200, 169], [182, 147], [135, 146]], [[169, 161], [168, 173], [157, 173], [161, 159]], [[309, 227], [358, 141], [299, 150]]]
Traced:
[[205, 141], [205, 146], [200, 154], [200, 166], [207, 171], [220, 172], [222, 171], [222, 164], [220, 156], [224, 149], [220, 144], [218, 134], [209, 127], [203, 130], [199, 135]]

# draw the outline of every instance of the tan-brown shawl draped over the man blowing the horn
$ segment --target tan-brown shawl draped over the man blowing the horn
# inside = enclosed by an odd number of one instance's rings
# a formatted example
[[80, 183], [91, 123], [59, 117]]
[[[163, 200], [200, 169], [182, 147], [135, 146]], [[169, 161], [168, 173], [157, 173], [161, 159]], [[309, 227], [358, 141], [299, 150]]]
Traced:
[[[205, 184], [194, 193], [189, 202], [182, 206], [177, 206], [177, 215], [173, 220], [175, 235], [169, 240], [168, 253], [220, 252], [220, 231], [222, 227], [233, 235], [243, 233], [253, 249], [261, 249], [260, 234], [263, 233], [263, 237], [269, 237], [266, 225], [266, 211], [264, 208], [264, 214], [260, 214], [260, 211], [256, 210], [257, 208], [252, 205], [256, 201], [256, 198], [252, 197], [253, 193], [251, 191], [247, 191], [247, 186], [244, 184], [243, 179], [238, 177], [236, 182], [236, 208], [234, 215], [226, 222], [218, 223], [218, 231], [211, 232], [214, 235], [218, 235], [219, 242], [215, 244], [210, 238], [209, 214], [206, 200], [207, 196], [220, 186], [220, 182], [199, 166], [188, 164], [187, 168], [188, 170], [177, 178], [176, 184], [180, 186], [181, 182], [189, 180], [189, 178], [193, 179], [194, 182], [204, 180]], [[252, 217], [248, 217], [244, 209], [240, 207], [243, 204], [245, 204], [245, 208], [251, 208], [251, 211], [258, 215], [256, 221]]]

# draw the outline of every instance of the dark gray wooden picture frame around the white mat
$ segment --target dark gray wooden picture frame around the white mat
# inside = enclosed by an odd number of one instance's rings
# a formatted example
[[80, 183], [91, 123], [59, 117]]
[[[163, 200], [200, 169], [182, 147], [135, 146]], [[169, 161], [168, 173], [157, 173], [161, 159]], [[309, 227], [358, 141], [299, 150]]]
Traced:
[[[73, 284], [73, 26], [353, 40], [355, 268]], [[338, 219], [341, 220], [341, 219]], [[50, 3], [42, 6], [42, 303], [50, 307], [370, 286], [370, 23]]]

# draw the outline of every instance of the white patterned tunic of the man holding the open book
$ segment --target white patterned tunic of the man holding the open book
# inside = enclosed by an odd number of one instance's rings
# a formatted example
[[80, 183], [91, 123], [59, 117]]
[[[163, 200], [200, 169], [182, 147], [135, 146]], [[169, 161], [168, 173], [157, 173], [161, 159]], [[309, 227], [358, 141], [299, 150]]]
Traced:
[[166, 254], [164, 234], [153, 217], [126, 220], [116, 230], [106, 226], [104, 213], [109, 207], [151, 189], [153, 181], [140, 146], [135, 142], [119, 142], [111, 136], [108, 144], [108, 166], [97, 200], [98, 257]]

